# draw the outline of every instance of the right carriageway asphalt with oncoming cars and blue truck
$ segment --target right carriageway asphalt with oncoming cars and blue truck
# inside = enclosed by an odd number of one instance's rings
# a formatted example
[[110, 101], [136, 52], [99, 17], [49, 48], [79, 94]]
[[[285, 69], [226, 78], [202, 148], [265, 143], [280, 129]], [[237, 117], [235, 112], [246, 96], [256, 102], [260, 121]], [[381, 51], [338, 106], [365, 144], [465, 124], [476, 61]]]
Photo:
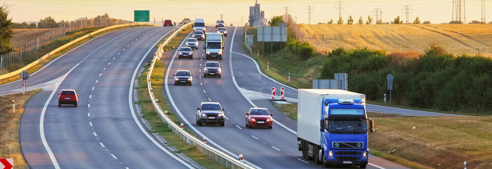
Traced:
[[[208, 32], [215, 28], [207, 28]], [[223, 60], [218, 61], [222, 67], [221, 78], [203, 77], [203, 65], [206, 63], [203, 46], [194, 50], [193, 59], [177, 59], [174, 55], [168, 55], [162, 60], [171, 63], [169, 76], [165, 82], [167, 90], [163, 91], [167, 95], [168, 103], [176, 109], [181, 120], [191, 128], [199, 137], [206, 136], [208, 142], [218, 148], [234, 155], [243, 154], [244, 159], [260, 168], [322, 168], [321, 165], [314, 165], [312, 161], [306, 161], [302, 154], [297, 150], [296, 121], [293, 121], [282, 113], [279, 113], [272, 104], [261, 93], [270, 93], [272, 85], [279, 89], [280, 84], [262, 76], [256, 69], [254, 62], [242, 56], [245, 54], [242, 47], [243, 28], [238, 27], [234, 36], [234, 27], [227, 27], [229, 36], [225, 37], [225, 50]], [[230, 52], [230, 49], [232, 51]], [[238, 54], [240, 53], [240, 54]], [[174, 54], [174, 53], [173, 53]], [[232, 54], [232, 55], [231, 55]], [[232, 59], [232, 60], [231, 60]], [[233, 72], [231, 72], [231, 69]], [[193, 86], [175, 86], [172, 74], [177, 70], [189, 70], [193, 76]], [[232, 74], [235, 75], [233, 78]], [[289, 90], [291, 92], [287, 93]], [[286, 89], [286, 97], [297, 97], [297, 91]], [[256, 92], [256, 93], [255, 93]], [[279, 91], [278, 91], [279, 92]], [[249, 94], [245, 94], [249, 93]], [[245, 94], [245, 97], [243, 97]], [[247, 99], [246, 99], [247, 98]], [[253, 99], [254, 98], [254, 99]], [[196, 108], [203, 101], [216, 101], [226, 109], [226, 122], [224, 127], [218, 125], [198, 126], [195, 124]], [[251, 101], [251, 102], [249, 102]], [[245, 127], [245, 113], [254, 105], [267, 107], [274, 112], [276, 123], [273, 129]], [[280, 122], [283, 126], [279, 125]], [[369, 157], [372, 165], [369, 169], [386, 168], [400, 169], [405, 168], [398, 164], [389, 162], [378, 157]], [[358, 166], [339, 166], [341, 168], [358, 168]]]

